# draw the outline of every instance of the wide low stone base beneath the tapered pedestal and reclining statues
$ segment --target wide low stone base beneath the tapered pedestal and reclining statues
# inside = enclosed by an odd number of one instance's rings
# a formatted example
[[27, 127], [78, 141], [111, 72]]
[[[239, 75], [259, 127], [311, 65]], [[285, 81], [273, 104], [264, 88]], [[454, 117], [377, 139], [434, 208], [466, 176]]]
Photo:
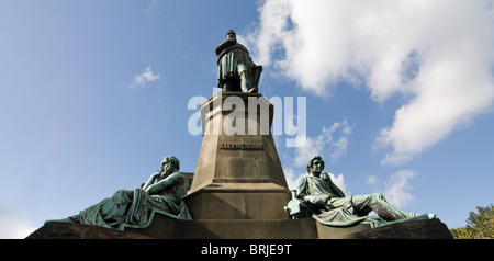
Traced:
[[329, 227], [313, 219], [177, 220], [157, 214], [144, 229], [50, 222], [26, 239], [453, 239], [439, 219], [414, 220], [371, 229], [368, 225]]

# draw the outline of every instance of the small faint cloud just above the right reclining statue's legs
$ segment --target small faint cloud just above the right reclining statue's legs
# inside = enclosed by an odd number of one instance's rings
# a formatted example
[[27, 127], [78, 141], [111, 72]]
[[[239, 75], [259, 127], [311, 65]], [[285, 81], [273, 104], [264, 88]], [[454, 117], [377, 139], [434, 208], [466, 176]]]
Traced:
[[384, 181], [385, 191], [384, 197], [389, 203], [403, 207], [415, 200], [415, 197], [408, 192], [412, 186], [409, 180], [416, 177], [417, 173], [412, 170], [401, 170], [394, 172], [390, 178]]

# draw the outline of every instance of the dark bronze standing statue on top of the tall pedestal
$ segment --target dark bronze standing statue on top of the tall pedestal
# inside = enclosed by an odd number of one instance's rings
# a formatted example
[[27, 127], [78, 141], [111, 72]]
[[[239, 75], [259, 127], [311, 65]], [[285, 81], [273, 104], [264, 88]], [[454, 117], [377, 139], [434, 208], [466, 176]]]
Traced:
[[218, 66], [217, 87], [223, 91], [258, 92], [262, 66], [254, 64], [247, 48], [237, 43], [233, 30], [226, 32], [226, 39], [214, 52]]

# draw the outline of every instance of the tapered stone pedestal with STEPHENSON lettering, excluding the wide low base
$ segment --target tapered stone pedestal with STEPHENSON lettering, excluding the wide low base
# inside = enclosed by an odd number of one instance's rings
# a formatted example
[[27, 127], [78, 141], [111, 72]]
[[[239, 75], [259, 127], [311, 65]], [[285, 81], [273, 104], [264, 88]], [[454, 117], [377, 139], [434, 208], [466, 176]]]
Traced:
[[191, 190], [194, 219], [288, 219], [291, 195], [259, 93], [217, 92], [201, 104], [203, 141]]

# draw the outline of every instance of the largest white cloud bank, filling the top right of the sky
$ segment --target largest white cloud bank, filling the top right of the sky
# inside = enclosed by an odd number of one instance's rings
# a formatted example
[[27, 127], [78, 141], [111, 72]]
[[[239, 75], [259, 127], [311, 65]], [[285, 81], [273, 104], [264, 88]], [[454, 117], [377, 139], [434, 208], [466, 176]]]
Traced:
[[[377, 138], [384, 163], [406, 162], [494, 101], [493, 1], [267, 0], [245, 36], [258, 64], [302, 89], [341, 80], [371, 99], [407, 100]], [[257, 57], [256, 57], [257, 56]]]

